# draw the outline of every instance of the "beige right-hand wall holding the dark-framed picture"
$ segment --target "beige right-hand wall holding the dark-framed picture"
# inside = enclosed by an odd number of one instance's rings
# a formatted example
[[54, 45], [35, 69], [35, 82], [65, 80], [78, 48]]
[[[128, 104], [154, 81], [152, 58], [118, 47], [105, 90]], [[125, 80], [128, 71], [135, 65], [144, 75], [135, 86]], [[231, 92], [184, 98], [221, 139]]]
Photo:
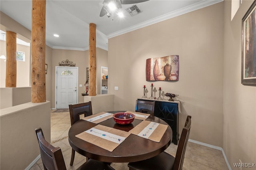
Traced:
[[252, 2], [243, 0], [231, 21], [231, 1], [224, 1], [223, 149], [231, 167], [239, 159], [256, 163], [256, 87], [241, 84], [242, 18]]

